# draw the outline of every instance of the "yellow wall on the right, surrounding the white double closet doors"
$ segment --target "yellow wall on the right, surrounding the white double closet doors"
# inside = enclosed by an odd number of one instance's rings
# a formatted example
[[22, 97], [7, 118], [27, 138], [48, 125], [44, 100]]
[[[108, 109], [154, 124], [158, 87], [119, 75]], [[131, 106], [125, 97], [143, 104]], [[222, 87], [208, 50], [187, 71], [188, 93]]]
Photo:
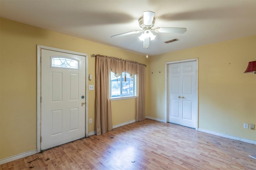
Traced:
[[243, 73], [256, 61], [256, 36], [150, 57], [147, 116], [165, 120], [165, 63], [192, 58], [198, 58], [198, 128], [256, 141], [256, 130], [243, 128], [256, 125], [256, 75]]

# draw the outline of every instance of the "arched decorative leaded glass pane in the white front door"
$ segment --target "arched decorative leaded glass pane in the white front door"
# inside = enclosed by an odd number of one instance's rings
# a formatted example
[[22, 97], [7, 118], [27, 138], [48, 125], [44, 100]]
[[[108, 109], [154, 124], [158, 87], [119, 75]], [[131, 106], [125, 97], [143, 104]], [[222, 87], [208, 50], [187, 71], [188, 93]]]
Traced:
[[78, 69], [78, 61], [64, 57], [52, 57], [52, 67]]

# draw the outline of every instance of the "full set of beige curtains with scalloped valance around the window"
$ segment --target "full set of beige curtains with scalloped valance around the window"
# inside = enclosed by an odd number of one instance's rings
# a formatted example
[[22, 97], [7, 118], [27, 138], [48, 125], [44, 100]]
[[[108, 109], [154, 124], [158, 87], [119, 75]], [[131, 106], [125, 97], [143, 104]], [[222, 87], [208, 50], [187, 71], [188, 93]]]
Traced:
[[110, 70], [116, 77], [127, 71], [131, 77], [137, 74], [136, 121], [145, 119], [145, 67], [146, 65], [104, 55], [96, 57], [96, 131], [97, 135], [112, 130], [110, 101]]

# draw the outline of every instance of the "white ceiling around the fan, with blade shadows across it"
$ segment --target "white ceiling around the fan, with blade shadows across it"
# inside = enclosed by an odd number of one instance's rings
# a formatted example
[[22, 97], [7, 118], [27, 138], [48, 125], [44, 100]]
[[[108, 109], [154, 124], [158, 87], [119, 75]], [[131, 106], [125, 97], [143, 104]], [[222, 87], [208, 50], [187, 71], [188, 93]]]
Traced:
[[[144, 11], [155, 12], [153, 29], [187, 32], [153, 32], [148, 49], [142, 33], [110, 38], [140, 30]], [[149, 56], [256, 35], [256, 0], [0, 0], [0, 16]]]

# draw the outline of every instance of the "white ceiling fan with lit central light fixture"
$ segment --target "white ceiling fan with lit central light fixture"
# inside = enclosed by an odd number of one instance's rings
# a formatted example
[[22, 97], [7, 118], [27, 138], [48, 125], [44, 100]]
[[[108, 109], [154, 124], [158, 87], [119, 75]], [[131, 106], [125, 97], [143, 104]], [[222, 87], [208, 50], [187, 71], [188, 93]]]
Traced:
[[155, 13], [152, 11], [144, 11], [143, 12], [143, 17], [141, 17], [139, 19], [139, 25], [140, 28], [142, 30], [139, 31], [131, 31], [131, 32], [126, 32], [126, 33], [122, 33], [122, 34], [118, 34], [115, 36], [111, 36], [111, 38], [118, 38], [118, 37], [122, 37], [122, 36], [127, 36], [130, 34], [138, 34], [140, 32], [144, 32], [142, 33], [142, 35], [139, 37], [140, 40], [143, 41], [143, 48], [148, 48], [149, 47], [149, 42], [150, 40], [154, 40], [154, 38], [156, 36], [154, 36], [152, 34], [152, 32], [165, 32], [165, 33], [180, 33], [183, 34], [184, 32], [187, 31], [186, 28], [156, 28], [155, 30], [152, 29], [152, 27], [155, 24], [155, 18], [154, 18]]

